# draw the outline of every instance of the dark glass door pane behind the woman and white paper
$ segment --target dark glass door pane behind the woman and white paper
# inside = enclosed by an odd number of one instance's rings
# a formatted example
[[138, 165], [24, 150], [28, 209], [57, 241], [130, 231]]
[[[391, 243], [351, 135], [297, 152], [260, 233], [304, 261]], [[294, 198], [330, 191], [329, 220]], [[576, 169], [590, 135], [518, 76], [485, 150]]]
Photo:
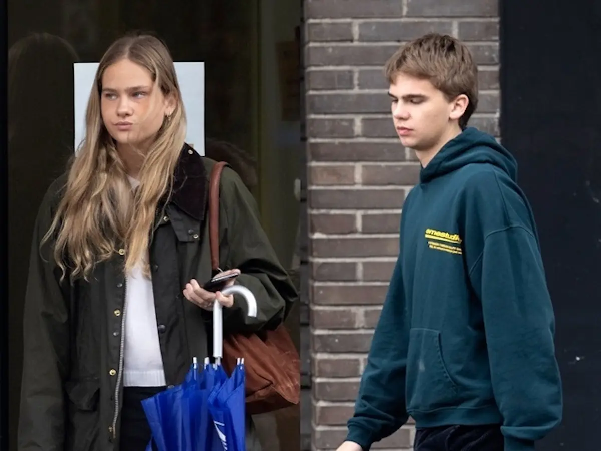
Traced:
[[162, 37], [175, 61], [204, 61], [206, 154], [251, 167], [259, 160], [259, 14], [259, 0], [8, 0], [10, 451], [16, 449], [32, 227], [44, 192], [73, 155], [73, 63], [99, 61], [115, 38], [133, 29]]

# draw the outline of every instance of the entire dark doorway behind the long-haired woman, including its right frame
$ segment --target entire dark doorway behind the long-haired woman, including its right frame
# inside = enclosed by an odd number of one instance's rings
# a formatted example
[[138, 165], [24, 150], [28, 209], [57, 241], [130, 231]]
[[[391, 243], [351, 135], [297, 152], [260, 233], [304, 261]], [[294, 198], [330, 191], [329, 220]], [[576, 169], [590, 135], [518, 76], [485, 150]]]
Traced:
[[[8, 41], [8, 83], [2, 85], [8, 85], [9, 93], [8, 139], [7, 150], [1, 149], [5, 161], [0, 161], [7, 177], [0, 177], [0, 185], [8, 186], [0, 192], [0, 207], [8, 210], [8, 220], [0, 221], [0, 229], [8, 229], [10, 241], [0, 244], [0, 252], [7, 253], [0, 265], [8, 263], [6, 271], [0, 268], [8, 275], [8, 282], [0, 283], [7, 291], [0, 305], [7, 317], [0, 342], [7, 338], [10, 346], [0, 352], [0, 387], [7, 392], [0, 401], [8, 413], [0, 413], [0, 420], [8, 423], [10, 441], [3, 429], [0, 450], [13, 451], [31, 235], [47, 186], [63, 173], [74, 152], [73, 63], [99, 61], [112, 40], [135, 29], [163, 38], [175, 61], [203, 61], [206, 156], [229, 161], [239, 171], [287, 268], [296, 261], [299, 202], [294, 179], [301, 175], [301, 160], [291, 155], [304, 148], [295, 95], [302, 92], [296, 86], [301, 2], [106, 0], [102, 8], [70, 0], [7, 3], [7, 20], [0, 24]], [[287, 320], [296, 342], [299, 314], [296, 310]], [[255, 418], [255, 423], [265, 451], [293, 451], [299, 443], [296, 407]]]

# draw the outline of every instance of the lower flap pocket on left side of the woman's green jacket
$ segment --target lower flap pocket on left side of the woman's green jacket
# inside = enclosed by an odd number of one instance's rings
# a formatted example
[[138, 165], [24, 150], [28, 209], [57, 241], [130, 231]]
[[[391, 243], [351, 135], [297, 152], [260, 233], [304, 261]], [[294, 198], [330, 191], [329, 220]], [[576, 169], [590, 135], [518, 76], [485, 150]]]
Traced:
[[92, 451], [99, 438], [100, 381], [97, 378], [69, 381], [67, 393], [67, 451]]

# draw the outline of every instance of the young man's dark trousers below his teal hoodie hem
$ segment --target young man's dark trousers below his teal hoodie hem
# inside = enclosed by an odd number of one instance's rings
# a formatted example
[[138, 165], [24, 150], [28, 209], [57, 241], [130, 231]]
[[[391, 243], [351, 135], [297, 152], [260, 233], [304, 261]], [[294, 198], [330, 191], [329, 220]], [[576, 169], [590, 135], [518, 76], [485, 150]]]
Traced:
[[417, 429], [414, 451], [504, 451], [501, 426], [443, 426]]

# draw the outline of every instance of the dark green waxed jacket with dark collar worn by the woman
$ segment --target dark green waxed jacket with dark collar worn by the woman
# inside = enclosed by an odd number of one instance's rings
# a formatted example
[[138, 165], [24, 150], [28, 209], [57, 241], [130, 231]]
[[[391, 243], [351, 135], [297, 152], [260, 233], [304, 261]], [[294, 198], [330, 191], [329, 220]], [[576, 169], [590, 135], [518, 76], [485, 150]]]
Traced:
[[[191, 278], [203, 283], [212, 276], [206, 219], [208, 174], [214, 164], [186, 145], [171, 199], [157, 208], [149, 252], [168, 385], [183, 381], [192, 357], [201, 360], [212, 354], [211, 316], [182, 291]], [[115, 252], [97, 265], [90, 283], [70, 284], [68, 277], [59, 282], [52, 242], [40, 250], [40, 241], [65, 180], [50, 186], [35, 222], [25, 299], [18, 449], [117, 451], [127, 314], [124, 256]], [[297, 292], [261, 227], [254, 198], [228, 167], [221, 178], [219, 219], [221, 267], [239, 268], [237, 283], [248, 287], [258, 302], [257, 318], [246, 316], [240, 299], [224, 309], [224, 334], [277, 327]]]

